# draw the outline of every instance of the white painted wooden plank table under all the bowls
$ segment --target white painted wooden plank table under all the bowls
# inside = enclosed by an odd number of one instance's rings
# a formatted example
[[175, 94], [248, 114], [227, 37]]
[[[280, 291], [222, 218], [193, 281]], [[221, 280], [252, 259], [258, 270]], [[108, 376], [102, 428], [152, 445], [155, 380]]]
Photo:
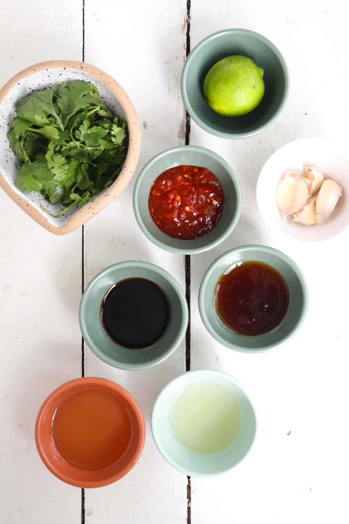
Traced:
[[[348, 136], [345, 2], [1, 0], [0, 13], [1, 84], [32, 63], [83, 58], [114, 77], [136, 106], [143, 134], [139, 169], [157, 152], [184, 144], [190, 126], [190, 143], [216, 151], [237, 173], [243, 193], [237, 228], [218, 248], [191, 257], [187, 354], [191, 369], [220, 369], [241, 380], [258, 411], [256, 444], [229, 474], [188, 480], [170, 467], [155, 449], [150, 413], [162, 387], [185, 371], [185, 344], [150, 370], [124, 372], [99, 361], [86, 345], [82, 349], [77, 313], [82, 288], [106, 266], [147, 260], [184, 288], [184, 257], [156, 248], [139, 230], [131, 204], [134, 180], [83, 232], [65, 237], [44, 231], [1, 192], [1, 524], [347, 523], [347, 243], [341, 238], [310, 246], [272, 237], [255, 202], [258, 171], [280, 146], [301, 137]], [[188, 47], [229, 27], [271, 39], [290, 72], [283, 114], [261, 135], [241, 141], [213, 137], [194, 122], [186, 126], [179, 85]], [[309, 312], [299, 333], [261, 355], [216, 343], [197, 308], [208, 265], [243, 244], [283, 250], [309, 286]], [[147, 424], [139, 464], [118, 483], [83, 493], [49, 473], [34, 441], [44, 398], [82, 373], [128, 389]]]

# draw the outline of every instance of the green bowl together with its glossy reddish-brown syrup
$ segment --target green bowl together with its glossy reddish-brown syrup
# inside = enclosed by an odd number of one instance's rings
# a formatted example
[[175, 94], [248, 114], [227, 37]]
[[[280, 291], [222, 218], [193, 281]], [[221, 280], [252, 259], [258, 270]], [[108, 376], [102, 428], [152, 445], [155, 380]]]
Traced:
[[308, 309], [306, 280], [293, 260], [267, 246], [229, 250], [208, 268], [199, 290], [207, 331], [232, 350], [257, 353], [287, 342]]

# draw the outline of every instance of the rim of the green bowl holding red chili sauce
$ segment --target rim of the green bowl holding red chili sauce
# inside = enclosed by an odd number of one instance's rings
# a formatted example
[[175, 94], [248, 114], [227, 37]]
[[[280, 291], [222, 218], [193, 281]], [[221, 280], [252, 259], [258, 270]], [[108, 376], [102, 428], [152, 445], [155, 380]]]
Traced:
[[[144, 222], [142, 220], [141, 213], [139, 212], [139, 206], [138, 206], [139, 190], [140, 190], [141, 184], [143, 182], [143, 179], [144, 179], [145, 174], [147, 173], [149, 167], [151, 167], [153, 164], [155, 164], [157, 159], [166, 156], [167, 154], [169, 154], [172, 151], [184, 151], [184, 150], [200, 152], [202, 155], [207, 155], [207, 156], [217, 160], [217, 162], [219, 162], [221, 164], [221, 166], [223, 166], [223, 168], [226, 169], [226, 171], [229, 173], [229, 176], [230, 176], [230, 178], [231, 178], [231, 180], [232, 180], [232, 182], [234, 184], [235, 191], [237, 192], [237, 205], [236, 205], [236, 208], [235, 208], [235, 213], [234, 213], [234, 215], [232, 217], [232, 220], [231, 220], [229, 226], [226, 228], [226, 230], [224, 230], [224, 232], [218, 238], [216, 238], [212, 242], [209, 242], [205, 246], [198, 247], [198, 248], [193, 247], [193, 248], [188, 248], [188, 249], [185, 249], [185, 247], [179, 248], [179, 247], [168, 246], [167, 244], [163, 243], [162, 241], [158, 240], [155, 236], [153, 236], [150, 233], [150, 231], [148, 230], [148, 228], [145, 226], [145, 224], [144, 224]], [[180, 164], [178, 164], [178, 166], [179, 165]], [[161, 174], [161, 173], [159, 173], [159, 174]], [[183, 145], [183, 146], [175, 146], [175, 147], [170, 147], [169, 149], [165, 149], [164, 151], [161, 151], [160, 153], [155, 155], [153, 158], [151, 158], [145, 164], [145, 166], [141, 169], [141, 171], [140, 171], [140, 173], [139, 173], [139, 175], [137, 177], [136, 183], [134, 184], [134, 189], [133, 189], [133, 211], [134, 211], [134, 216], [136, 216], [137, 223], [138, 223], [139, 227], [141, 228], [142, 232], [144, 233], [144, 235], [153, 244], [155, 244], [155, 246], [161, 247], [162, 249], [165, 249], [166, 251], [169, 251], [171, 253], [178, 253], [180, 255], [196, 255], [197, 253], [202, 253], [204, 251], [208, 251], [209, 249], [212, 249], [213, 247], [218, 246], [221, 242], [223, 242], [226, 238], [228, 238], [228, 236], [231, 234], [231, 232], [233, 231], [233, 229], [235, 228], [235, 226], [237, 225], [237, 223], [238, 223], [238, 221], [240, 219], [241, 205], [242, 205], [242, 193], [241, 193], [240, 182], [239, 182], [238, 177], [235, 174], [234, 170], [232, 169], [232, 167], [229, 165], [227, 160], [224, 160], [224, 158], [222, 158], [220, 155], [218, 155], [214, 151], [211, 151], [210, 149], [206, 149], [205, 147], [199, 147], [199, 146], [185, 146], [185, 145]], [[223, 210], [223, 212], [224, 212], [224, 210]], [[171, 238], [171, 237], [169, 237], [169, 238]], [[187, 242], [187, 241], [183, 240], [182, 242]]]

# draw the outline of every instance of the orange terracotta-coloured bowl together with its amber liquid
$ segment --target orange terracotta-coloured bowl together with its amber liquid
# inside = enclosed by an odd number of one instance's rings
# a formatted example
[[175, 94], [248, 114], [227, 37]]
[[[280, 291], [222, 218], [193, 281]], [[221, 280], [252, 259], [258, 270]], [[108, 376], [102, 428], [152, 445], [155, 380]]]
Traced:
[[43, 463], [61, 481], [81, 488], [106, 486], [137, 464], [144, 418], [136, 400], [118, 384], [77, 378], [43, 402], [35, 440]]

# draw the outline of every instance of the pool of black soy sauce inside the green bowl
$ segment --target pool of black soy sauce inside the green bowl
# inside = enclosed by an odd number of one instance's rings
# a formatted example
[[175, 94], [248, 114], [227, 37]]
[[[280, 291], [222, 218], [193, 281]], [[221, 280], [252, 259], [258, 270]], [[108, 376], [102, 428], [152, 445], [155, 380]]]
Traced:
[[112, 286], [100, 306], [100, 320], [110, 339], [139, 350], [166, 331], [170, 304], [163, 290], [145, 278], [127, 278]]

